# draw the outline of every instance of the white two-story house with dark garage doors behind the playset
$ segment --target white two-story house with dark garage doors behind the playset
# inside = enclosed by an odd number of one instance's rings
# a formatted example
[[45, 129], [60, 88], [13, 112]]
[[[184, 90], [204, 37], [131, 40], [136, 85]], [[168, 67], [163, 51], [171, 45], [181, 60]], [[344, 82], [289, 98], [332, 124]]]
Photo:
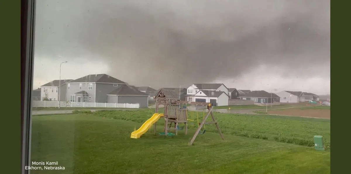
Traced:
[[223, 83], [194, 83], [187, 88], [186, 100], [228, 106], [228, 88]]

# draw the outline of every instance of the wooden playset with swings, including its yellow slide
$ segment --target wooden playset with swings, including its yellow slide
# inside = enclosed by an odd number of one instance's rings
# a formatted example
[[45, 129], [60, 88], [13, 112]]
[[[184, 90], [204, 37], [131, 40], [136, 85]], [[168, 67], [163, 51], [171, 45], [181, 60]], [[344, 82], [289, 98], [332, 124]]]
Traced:
[[[207, 102], [190, 102], [190, 101], [180, 101], [177, 97], [177, 95], [174, 95], [173, 91], [169, 90], [160, 90], [158, 93], [155, 94], [155, 113], [152, 115], [152, 117], [148, 120], [146, 120], [143, 125], [136, 131], [132, 132], [131, 138], [138, 139], [140, 138], [141, 135], [146, 133], [152, 125], [154, 125], [154, 134], [156, 134], [156, 122], [160, 118], [165, 119], [165, 128], [164, 132], [160, 133], [160, 135], [165, 135], [165, 136], [170, 136], [170, 135], [178, 135], [178, 130], [182, 130], [185, 128], [185, 134], [187, 134], [187, 129], [188, 129], [188, 121], [195, 121], [191, 120], [188, 116], [188, 109], [186, 107], [187, 104], [192, 104], [192, 105], [197, 105], [197, 106], [207, 106], [208, 112], [205, 116], [205, 113], [203, 112], [203, 120], [201, 123], [199, 123], [199, 117], [197, 113], [197, 120], [198, 120], [198, 128], [191, 139], [189, 145], [192, 145], [193, 142], [195, 141], [196, 137], [200, 133], [202, 127], [206, 124], [214, 124], [217, 127], [218, 133], [221, 136], [221, 138], [224, 140], [223, 134], [218, 126], [218, 123], [216, 121], [216, 118], [214, 117], [212, 113], [212, 103], [207, 103]], [[159, 105], [164, 106], [164, 113], [159, 113]], [[183, 107], [180, 107], [183, 105]], [[205, 110], [204, 110], [205, 111]], [[206, 122], [208, 116], [212, 117], [211, 122]], [[174, 123], [174, 127], [172, 127], [172, 123]], [[179, 124], [183, 124], [183, 127], [180, 127]], [[175, 130], [175, 134], [170, 133], [169, 131]], [[206, 128], [202, 132], [204, 134], [206, 132]]]

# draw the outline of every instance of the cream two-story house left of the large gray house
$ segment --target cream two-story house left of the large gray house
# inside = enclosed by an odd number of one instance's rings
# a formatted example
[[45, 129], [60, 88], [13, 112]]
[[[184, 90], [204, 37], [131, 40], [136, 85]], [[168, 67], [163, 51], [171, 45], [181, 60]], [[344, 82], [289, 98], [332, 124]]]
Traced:
[[59, 85], [60, 85], [60, 101], [66, 101], [66, 95], [65, 94], [66, 88], [67, 88], [67, 82], [72, 81], [72, 79], [67, 79], [67, 80], [53, 80], [51, 82], [48, 82], [42, 86], [40, 86], [41, 91], [40, 91], [40, 97], [41, 101], [43, 100], [48, 100], [48, 101], [58, 101], [59, 98]]

